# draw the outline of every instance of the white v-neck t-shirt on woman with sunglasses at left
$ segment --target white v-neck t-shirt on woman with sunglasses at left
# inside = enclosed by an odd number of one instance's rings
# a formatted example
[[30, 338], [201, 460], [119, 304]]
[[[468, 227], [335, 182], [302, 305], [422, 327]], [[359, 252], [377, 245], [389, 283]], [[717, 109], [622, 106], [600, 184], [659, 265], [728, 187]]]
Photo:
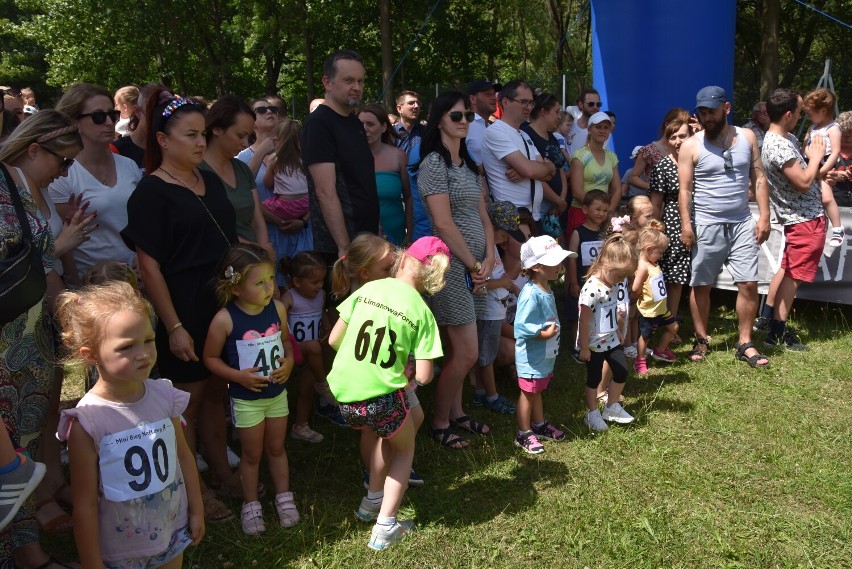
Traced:
[[136, 189], [142, 175], [136, 162], [118, 154], [115, 161], [116, 183], [105, 186], [79, 162], [74, 162], [68, 175], [58, 178], [47, 189], [55, 204], [65, 204], [71, 194], [83, 195], [89, 202], [89, 212], [97, 211], [95, 223], [99, 227], [89, 234], [89, 240], [74, 249], [77, 272], [82, 276], [98, 261], [113, 260], [131, 264], [135, 252], [127, 248], [119, 232], [127, 227], [127, 200]]

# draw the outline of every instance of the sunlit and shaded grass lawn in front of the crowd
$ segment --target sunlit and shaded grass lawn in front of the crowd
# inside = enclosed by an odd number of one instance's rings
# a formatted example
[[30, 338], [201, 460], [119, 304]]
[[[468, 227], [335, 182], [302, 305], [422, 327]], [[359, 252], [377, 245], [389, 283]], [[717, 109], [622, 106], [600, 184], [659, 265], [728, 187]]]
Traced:
[[[281, 528], [266, 498], [266, 534], [210, 524], [184, 567], [852, 567], [852, 311], [799, 302], [811, 351], [769, 351], [772, 367], [753, 370], [734, 359], [733, 296], [713, 299], [714, 352], [690, 364], [684, 345], [674, 364], [649, 360], [625, 388], [632, 425], [591, 435], [585, 369], [560, 356], [544, 405], [568, 436], [537, 457], [513, 445], [514, 416], [472, 404], [492, 434], [441, 448], [427, 429], [434, 389], [419, 390], [426, 486], [406, 494], [400, 517], [417, 530], [400, 544], [367, 548], [357, 434], [322, 421], [323, 443], [287, 441], [302, 522]], [[517, 386], [501, 392], [516, 398]], [[74, 555], [70, 537], [46, 541]]]

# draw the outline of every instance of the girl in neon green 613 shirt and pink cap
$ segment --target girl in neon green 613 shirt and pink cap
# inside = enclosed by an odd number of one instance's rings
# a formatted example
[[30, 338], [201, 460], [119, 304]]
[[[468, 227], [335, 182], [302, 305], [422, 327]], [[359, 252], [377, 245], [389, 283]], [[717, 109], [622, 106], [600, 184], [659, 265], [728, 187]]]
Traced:
[[415, 381], [425, 385], [432, 380], [431, 360], [442, 355], [438, 326], [420, 294], [443, 288], [450, 250], [436, 237], [423, 237], [396, 257], [395, 278], [365, 284], [338, 307], [329, 338], [337, 357], [328, 383], [346, 422], [381, 437], [357, 512], [364, 521], [376, 520], [372, 549], [390, 546], [412, 527], [396, 519], [414, 459], [405, 367], [414, 353]]

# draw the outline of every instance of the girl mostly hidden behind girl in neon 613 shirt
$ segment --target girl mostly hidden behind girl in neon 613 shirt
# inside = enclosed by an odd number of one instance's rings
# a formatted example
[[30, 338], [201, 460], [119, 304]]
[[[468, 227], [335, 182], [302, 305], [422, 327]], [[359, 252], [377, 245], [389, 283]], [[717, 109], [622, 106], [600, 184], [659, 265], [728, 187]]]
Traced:
[[[386, 279], [391, 276], [394, 265], [394, 247], [385, 239], [369, 233], [362, 233], [352, 240], [346, 256], [338, 259], [331, 269], [332, 294], [337, 298], [345, 298], [368, 282]], [[410, 358], [409, 358], [410, 359]], [[411, 408], [411, 419], [414, 421], [414, 431], [423, 424], [423, 408], [415, 393], [411, 362], [406, 367], [409, 376], [405, 395]], [[364, 487], [370, 486], [370, 457], [373, 455], [379, 437], [370, 429], [361, 430], [361, 464], [364, 465]], [[408, 476], [409, 486], [423, 486], [423, 478], [414, 469]]]

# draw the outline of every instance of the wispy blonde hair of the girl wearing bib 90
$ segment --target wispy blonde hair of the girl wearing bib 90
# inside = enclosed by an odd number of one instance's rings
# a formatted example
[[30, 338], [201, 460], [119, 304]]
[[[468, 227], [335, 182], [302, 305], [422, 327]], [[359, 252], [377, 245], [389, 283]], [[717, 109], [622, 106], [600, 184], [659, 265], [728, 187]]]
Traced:
[[116, 312], [133, 312], [155, 322], [154, 309], [129, 283], [111, 281], [88, 285], [77, 292], [65, 291], [56, 300], [56, 317], [62, 328], [62, 342], [68, 348], [68, 363], [86, 364], [80, 348], [97, 353], [103, 342], [104, 327]]

